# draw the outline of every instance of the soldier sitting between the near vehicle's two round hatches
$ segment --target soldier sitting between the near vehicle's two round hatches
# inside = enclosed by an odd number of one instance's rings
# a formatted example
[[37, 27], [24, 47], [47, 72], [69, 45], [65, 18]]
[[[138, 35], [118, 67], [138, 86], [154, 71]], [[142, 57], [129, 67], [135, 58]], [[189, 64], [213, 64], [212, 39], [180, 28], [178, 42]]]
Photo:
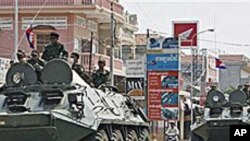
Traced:
[[40, 59], [40, 54], [37, 50], [32, 50], [31, 58], [27, 60], [27, 63], [31, 64], [35, 68], [37, 77], [40, 80], [41, 71], [44, 67], [44, 62]]

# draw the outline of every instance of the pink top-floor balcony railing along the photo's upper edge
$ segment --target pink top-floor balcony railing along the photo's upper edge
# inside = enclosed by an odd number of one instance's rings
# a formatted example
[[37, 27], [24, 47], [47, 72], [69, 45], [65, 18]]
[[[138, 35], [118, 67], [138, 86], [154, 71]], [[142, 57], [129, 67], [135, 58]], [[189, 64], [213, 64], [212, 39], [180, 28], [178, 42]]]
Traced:
[[[46, 6], [100, 6], [110, 9], [111, 0], [18, 0], [19, 6], [32, 7], [42, 6], [46, 2]], [[0, 9], [4, 7], [12, 7], [15, 0], [0, 0]], [[113, 4], [114, 11], [120, 15], [123, 14], [123, 6], [119, 3]]]

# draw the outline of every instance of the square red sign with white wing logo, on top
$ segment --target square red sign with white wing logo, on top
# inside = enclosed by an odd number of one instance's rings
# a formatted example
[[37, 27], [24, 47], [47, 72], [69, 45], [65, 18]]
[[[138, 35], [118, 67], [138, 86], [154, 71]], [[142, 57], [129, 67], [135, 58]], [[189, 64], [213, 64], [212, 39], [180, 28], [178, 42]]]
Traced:
[[197, 22], [173, 22], [174, 36], [180, 37], [182, 47], [197, 46]]

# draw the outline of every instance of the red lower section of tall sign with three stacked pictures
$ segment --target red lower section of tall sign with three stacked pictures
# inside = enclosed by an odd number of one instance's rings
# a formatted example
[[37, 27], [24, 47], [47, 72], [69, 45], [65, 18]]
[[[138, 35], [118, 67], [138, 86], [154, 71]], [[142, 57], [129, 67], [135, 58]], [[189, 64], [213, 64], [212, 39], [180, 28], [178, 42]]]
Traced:
[[153, 120], [178, 118], [178, 71], [148, 72], [148, 117]]

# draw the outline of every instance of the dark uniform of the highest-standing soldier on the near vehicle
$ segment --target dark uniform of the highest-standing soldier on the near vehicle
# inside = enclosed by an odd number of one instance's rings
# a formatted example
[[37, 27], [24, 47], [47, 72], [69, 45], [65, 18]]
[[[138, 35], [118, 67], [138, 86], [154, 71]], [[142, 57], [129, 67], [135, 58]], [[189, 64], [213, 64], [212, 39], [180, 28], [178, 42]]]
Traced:
[[45, 50], [42, 55], [42, 59], [45, 61], [50, 61], [55, 58], [61, 58], [63, 53], [65, 53], [64, 46], [60, 43], [49, 44], [45, 47]]

